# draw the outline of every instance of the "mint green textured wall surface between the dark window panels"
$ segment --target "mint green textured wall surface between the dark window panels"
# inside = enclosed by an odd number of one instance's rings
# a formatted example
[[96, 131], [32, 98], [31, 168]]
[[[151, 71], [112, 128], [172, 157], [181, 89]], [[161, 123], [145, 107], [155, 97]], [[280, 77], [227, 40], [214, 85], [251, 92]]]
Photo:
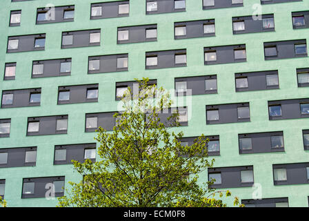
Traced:
[[[102, 0], [103, 1], [103, 0]], [[110, 0], [108, 0], [110, 1]], [[309, 153], [303, 150], [302, 129], [309, 128], [309, 119], [268, 120], [268, 100], [309, 97], [309, 88], [297, 88], [296, 68], [307, 68], [308, 57], [264, 61], [263, 42], [307, 39], [309, 30], [293, 30], [291, 12], [308, 10], [308, 0], [295, 3], [277, 3], [262, 7], [263, 14], [275, 14], [275, 32], [232, 35], [232, 17], [252, 15], [252, 5], [259, 0], [244, 0], [244, 7], [202, 10], [201, 0], [187, 0], [186, 12], [145, 15], [145, 0], [130, 0], [130, 17], [90, 20], [90, 3], [99, 0], [37, 0], [11, 3], [1, 0], [0, 8], [0, 70], [1, 90], [42, 88], [41, 106], [0, 109], [0, 119], [11, 118], [10, 137], [0, 139], [0, 148], [37, 146], [37, 165], [0, 169], [0, 179], [6, 179], [5, 198], [8, 206], [54, 206], [57, 200], [45, 198], [21, 199], [23, 177], [66, 176], [68, 181], [80, 179], [72, 173], [72, 165], [53, 165], [55, 144], [93, 142], [95, 133], [85, 133], [85, 113], [116, 111], [115, 82], [134, 78], [157, 79], [158, 86], [174, 88], [175, 77], [217, 74], [218, 93], [192, 96], [192, 117], [185, 136], [220, 135], [221, 155], [215, 157], [215, 166], [253, 165], [255, 183], [261, 184], [263, 198], [288, 197], [290, 206], [308, 206], [309, 185], [274, 186], [272, 164], [308, 162]], [[54, 6], [75, 5], [74, 22], [35, 25], [36, 9], [47, 3]], [[8, 27], [10, 10], [22, 10], [21, 26]], [[174, 22], [215, 19], [216, 36], [196, 39], [174, 39]], [[157, 41], [117, 45], [117, 27], [157, 23]], [[101, 46], [61, 49], [61, 32], [101, 28]], [[8, 36], [46, 33], [46, 50], [6, 54]], [[246, 44], [247, 62], [204, 66], [203, 47]], [[145, 52], [152, 50], [187, 49], [187, 67], [145, 70]], [[129, 53], [128, 72], [88, 75], [88, 56]], [[72, 57], [72, 75], [31, 79], [32, 61]], [[17, 62], [15, 80], [3, 81], [6, 62]], [[259, 90], [235, 93], [235, 73], [259, 70], [279, 70], [277, 90]], [[57, 105], [58, 86], [99, 83], [99, 102]], [[207, 104], [250, 102], [251, 122], [206, 125]], [[68, 134], [26, 137], [27, 118], [68, 114]], [[239, 155], [238, 134], [283, 131], [285, 152]], [[207, 173], [200, 175], [201, 182]], [[252, 188], [232, 188], [232, 195], [251, 199]], [[228, 200], [231, 205], [232, 198]]]

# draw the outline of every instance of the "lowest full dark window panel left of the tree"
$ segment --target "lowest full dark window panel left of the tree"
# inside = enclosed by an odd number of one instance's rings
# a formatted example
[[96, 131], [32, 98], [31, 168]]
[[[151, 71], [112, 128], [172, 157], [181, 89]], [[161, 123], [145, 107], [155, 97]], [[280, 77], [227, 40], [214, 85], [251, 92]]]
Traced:
[[50, 191], [49, 197], [61, 197], [64, 195], [64, 184], [64, 176], [23, 178], [21, 198], [46, 198], [47, 191]]

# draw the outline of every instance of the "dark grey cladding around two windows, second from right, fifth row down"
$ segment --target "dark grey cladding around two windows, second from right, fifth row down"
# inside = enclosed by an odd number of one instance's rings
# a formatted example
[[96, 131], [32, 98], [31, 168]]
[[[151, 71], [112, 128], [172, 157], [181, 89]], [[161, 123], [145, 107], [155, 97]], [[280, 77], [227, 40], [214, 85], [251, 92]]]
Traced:
[[[250, 122], [250, 118], [238, 118], [237, 108], [248, 107], [249, 103], [238, 103], [238, 104], [215, 104], [206, 105], [206, 124], [226, 124], [236, 122]], [[218, 120], [207, 119], [207, 111], [219, 111]]]

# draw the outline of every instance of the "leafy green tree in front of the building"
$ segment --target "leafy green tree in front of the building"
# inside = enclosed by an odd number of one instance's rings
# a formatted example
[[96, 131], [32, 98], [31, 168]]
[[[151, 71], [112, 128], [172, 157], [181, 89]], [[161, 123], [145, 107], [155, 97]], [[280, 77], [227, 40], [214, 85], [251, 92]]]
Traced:
[[170, 130], [180, 125], [179, 111], [160, 119], [171, 110], [170, 95], [148, 79], [137, 82], [138, 90], [128, 88], [123, 109], [114, 115], [112, 133], [100, 127], [94, 138], [101, 160], [73, 161], [83, 180], [70, 182], [58, 206], [226, 206], [214, 196], [230, 191], [208, 189], [213, 181], [197, 183], [199, 173], [215, 162], [208, 160], [208, 139], [201, 135], [195, 144], [181, 145], [183, 133]]

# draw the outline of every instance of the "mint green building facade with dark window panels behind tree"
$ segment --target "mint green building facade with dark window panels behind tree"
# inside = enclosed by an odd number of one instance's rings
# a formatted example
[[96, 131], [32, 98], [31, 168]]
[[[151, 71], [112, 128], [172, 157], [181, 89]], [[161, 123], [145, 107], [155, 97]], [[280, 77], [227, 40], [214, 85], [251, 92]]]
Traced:
[[[247, 206], [308, 206], [308, 0], [2, 0], [0, 195], [55, 206], [70, 160], [98, 160], [134, 79], [183, 98], [203, 183]], [[175, 104], [175, 108], [181, 108]], [[55, 198], [46, 198], [54, 186]], [[259, 199], [259, 200], [255, 200]], [[232, 206], [232, 198], [227, 200]]]

